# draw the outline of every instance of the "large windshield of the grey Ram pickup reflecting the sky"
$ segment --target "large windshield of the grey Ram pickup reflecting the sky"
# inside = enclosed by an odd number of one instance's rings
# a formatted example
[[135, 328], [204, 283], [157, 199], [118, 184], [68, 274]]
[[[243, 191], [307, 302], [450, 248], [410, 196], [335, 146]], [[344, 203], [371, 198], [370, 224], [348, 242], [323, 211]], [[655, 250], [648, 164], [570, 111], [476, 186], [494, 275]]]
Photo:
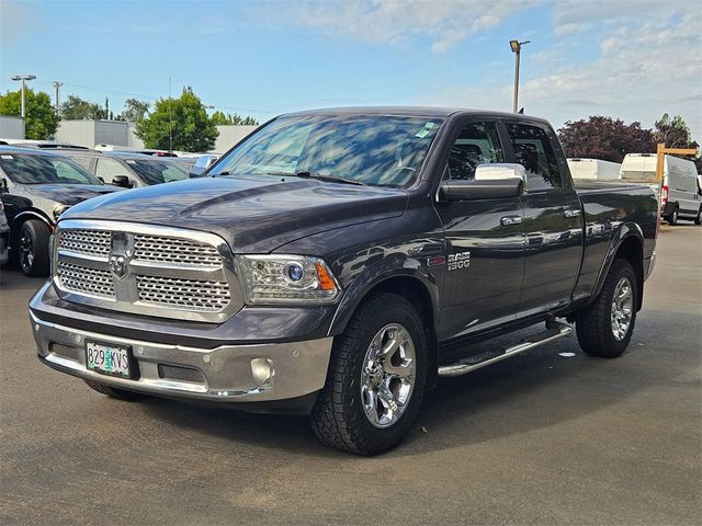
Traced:
[[210, 174], [304, 174], [409, 186], [441, 123], [386, 115], [280, 117], [230, 151]]

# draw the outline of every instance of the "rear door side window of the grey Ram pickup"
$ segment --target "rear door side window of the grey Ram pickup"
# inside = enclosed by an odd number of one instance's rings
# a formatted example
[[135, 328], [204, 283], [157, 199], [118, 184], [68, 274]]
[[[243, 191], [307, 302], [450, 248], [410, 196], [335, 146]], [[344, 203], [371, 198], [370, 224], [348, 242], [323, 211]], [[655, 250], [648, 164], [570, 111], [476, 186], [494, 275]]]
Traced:
[[526, 191], [563, 186], [556, 156], [546, 133], [537, 126], [508, 124], [517, 163], [526, 170]]

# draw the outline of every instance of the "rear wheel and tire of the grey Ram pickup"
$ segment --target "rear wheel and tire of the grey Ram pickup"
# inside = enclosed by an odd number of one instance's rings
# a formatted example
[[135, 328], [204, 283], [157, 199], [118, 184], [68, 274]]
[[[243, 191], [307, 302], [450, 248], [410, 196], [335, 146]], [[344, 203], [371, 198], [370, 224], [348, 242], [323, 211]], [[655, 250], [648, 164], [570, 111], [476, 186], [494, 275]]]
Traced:
[[[630, 287], [630, 296], [615, 309], [614, 295], [621, 298], [623, 283]], [[632, 265], [626, 260], [616, 259], [610, 268], [604, 285], [597, 299], [576, 316], [576, 332], [580, 348], [590, 356], [616, 358], [626, 350], [636, 324], [638, 285]], [[614, 313], [613, 313], [614, 310]], [[629, 310], [629, 322], [625, 312]], [[614, 329], [619, 328], [615, 335]], [[625, 327], [625, 330], [624, 330]]]

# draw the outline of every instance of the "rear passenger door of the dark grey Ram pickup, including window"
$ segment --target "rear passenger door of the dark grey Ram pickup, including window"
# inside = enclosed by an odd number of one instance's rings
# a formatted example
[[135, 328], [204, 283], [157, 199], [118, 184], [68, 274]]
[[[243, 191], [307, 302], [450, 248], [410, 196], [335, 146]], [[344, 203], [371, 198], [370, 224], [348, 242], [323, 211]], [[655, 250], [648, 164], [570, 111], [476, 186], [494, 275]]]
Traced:
[[[582, 251], [581, 204], [551, 128], [507, 122], [513, 162], [526, 171], [524, 283], [519, 317], [570, 301]], [[557, 153], [556, 153], [557, 152]], [[562, 156], [563, 157], [563, 156]]]

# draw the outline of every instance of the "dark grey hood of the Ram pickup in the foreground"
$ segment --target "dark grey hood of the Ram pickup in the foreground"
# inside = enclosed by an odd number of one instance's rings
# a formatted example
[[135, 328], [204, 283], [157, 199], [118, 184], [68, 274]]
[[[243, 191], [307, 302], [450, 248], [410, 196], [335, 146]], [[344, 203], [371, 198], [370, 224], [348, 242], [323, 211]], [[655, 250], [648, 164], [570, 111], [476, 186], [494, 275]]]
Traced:
[[[395, 217], [399, 188], [310, 179], [229, 175], [129, 190], [72, 207], [61, 219], [114, 219], [216, 233], [235, 252], [270, 252], [296, 239]], [[318, 254], [321, 255], [321, 254]]]

